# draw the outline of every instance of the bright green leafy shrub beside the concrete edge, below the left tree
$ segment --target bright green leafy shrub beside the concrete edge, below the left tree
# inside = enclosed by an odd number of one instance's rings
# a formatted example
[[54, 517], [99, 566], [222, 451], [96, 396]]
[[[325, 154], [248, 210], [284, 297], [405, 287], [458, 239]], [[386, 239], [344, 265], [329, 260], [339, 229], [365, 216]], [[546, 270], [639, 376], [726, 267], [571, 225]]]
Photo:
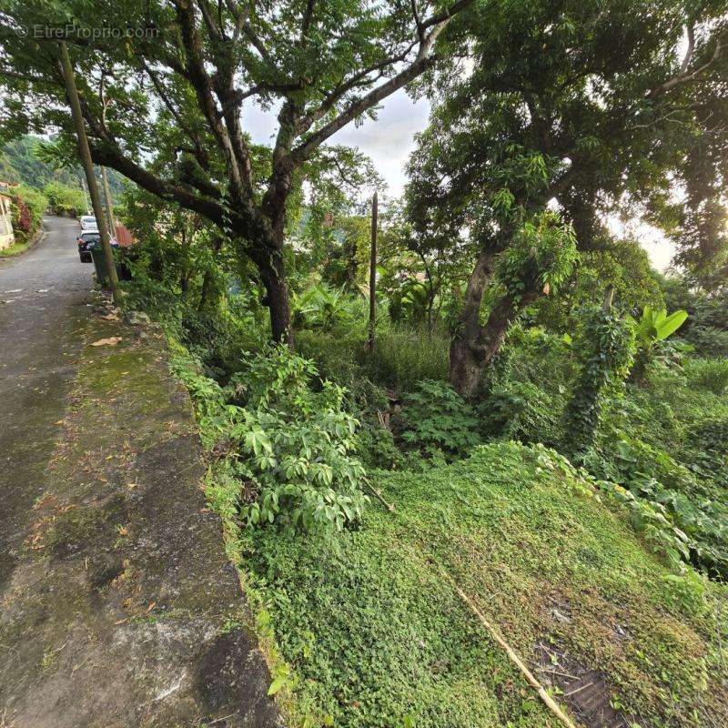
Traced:
[[272, 347], [250, 357], [225, 389], [199, 370], [177, 370], [196, 401], [207, 447], [226, 455], [248, 527], [329, 533], [359, 519], [367, 497], [354, 457], [358, 423], [343, 410], [344, 389], [328, 381], [311, 388], [318, 374], [312, 362]]

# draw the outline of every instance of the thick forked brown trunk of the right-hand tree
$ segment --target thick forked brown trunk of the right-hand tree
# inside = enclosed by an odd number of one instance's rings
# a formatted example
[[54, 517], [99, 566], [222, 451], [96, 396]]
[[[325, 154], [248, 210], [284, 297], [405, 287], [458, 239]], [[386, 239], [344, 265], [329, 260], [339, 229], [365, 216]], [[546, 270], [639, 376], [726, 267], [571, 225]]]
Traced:
[[460, 326], [450, 344], [450, 384], [466, 399], [478, 392], [483, 373], [501, 349], [508, 329], [521, 310], [540, 294], [536, 288], [530, 288], [519, 300], [503, 296], [490, 310], [485, 325], [481, 325], [480, 303], [490, 282], [495, 255], [495, 250], [480, 253], [468, 281]]

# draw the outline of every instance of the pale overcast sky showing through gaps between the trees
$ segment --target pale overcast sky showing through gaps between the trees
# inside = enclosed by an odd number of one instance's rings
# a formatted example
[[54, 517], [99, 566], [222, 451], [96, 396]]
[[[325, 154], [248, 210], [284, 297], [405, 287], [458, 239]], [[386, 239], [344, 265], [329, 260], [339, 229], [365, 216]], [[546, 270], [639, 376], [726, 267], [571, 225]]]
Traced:
[[[398, 197], [407, 182], [404, 167], [414, 147], [414, 135], [427, 126], [429, 113], [427, 101], [415, 103], [403, 90], [399, 90], [385, 100], [376, 121], [367, 119], [359, 128], [349, 124], [332, 136], [331, 142], [359, 147], [374, 160], [375, 167], [387, 183], [388, 194]], [[245, 112], [244, 125], [254, 141], [259, 143], [269, 143], [271, 130], [277, 128], [272, 113], [250, 106]], [[614, 221], [612, 227], [616, 231], [622, 226]], [[655, 268], [664, 270], [670, 265], [672, 245], [658, 230], [640, 225], [630, 232], [647, 250]]]

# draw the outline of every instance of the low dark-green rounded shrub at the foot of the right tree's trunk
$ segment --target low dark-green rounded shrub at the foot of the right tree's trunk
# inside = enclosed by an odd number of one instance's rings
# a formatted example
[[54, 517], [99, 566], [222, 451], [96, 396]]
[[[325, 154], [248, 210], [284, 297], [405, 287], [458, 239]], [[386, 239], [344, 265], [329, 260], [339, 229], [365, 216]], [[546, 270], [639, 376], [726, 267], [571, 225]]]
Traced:
[[447, 382], [420, 382], [399, 421], [402, 441], [425, 455], [463, 457], [481, 442], [475, 410]]

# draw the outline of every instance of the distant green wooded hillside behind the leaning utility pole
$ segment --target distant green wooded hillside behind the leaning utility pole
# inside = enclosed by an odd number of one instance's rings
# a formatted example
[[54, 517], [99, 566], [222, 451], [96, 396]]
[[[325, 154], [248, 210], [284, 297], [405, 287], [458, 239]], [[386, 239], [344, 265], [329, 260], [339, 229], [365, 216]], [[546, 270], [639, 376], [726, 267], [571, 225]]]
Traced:
[[[37, 189], [43, 189], [48, 182], [61, 182], [69, 187], [80, 187], [83, 175], [81, 167], [56, 169], [36, 155], [42, 139], [25, 135], [5, 144], [0, 152], [0, 179], [9, 182], [24, 182]], [[116, 199], [124, 190], [123, 177], [114, 170], [108, 170], [109, 187]]]

